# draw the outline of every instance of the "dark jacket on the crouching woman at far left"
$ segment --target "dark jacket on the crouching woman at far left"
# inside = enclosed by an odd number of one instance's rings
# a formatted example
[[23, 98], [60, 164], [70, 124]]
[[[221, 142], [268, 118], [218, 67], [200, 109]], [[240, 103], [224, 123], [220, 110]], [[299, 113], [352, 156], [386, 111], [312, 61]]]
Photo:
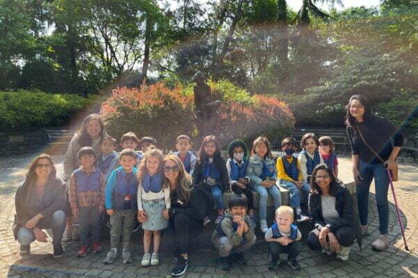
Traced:
[[17, 231], [38, 213], [43, 215], [43, 218], [38, 222], [38, 227], [42, 228], [49, 222], [54, 212], [65, 211], [65, 182], [62, 179], [49, 178], [45, 184], [42, 199], [39, 200], [36, 186], [31, 186], [26, 179], [17, 188], [15, 208], [13, 234], [17, 239]]

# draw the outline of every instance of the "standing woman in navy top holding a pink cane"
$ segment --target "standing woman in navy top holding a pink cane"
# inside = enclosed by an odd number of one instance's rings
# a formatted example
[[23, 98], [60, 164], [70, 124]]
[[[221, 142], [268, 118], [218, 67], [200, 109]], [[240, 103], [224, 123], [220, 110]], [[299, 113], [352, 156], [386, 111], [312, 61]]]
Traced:
[[371, 114], [369, 101], [362, 95], [350, 97], [346, 109], [347, 134], [353, 151], [353, 174], [357, 183], [357, 204], [362, 234], [368, 234], [369, 188], [374, 177], [380, 236], [372, 243], [372, 247], [376, 250], [386, 250], [389, 177], [385, 166], [387, 165], [389, 170], [396, 167], [395, 159], [403, 145], [403, 137], [388, 120]]

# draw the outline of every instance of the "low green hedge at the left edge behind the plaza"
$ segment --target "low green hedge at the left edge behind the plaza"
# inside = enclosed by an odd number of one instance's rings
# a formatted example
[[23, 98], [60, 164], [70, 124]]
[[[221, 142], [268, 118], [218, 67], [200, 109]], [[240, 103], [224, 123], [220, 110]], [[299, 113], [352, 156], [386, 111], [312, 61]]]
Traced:
[[62, 126], [96, 98], [25, 90], [0, 92], [0, 130]]

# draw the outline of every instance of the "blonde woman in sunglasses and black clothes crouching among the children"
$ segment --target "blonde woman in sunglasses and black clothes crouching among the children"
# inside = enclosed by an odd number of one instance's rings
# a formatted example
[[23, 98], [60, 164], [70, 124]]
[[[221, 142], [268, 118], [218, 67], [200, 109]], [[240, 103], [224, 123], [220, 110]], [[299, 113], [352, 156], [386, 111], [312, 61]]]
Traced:
[[178, 156], [169, 155], [164, 159], [164, 175], [171, 189], [170, 228], [176, 237], [178, 247], [177, 265], [172, 276], [183, 275], [189, 265], [190, 239], [199, 236], [203, 229], [207, 207], [214, 202], [207, 190], [199, 186], [192, 189], [192, 178], [185, 172], [185, 167]]

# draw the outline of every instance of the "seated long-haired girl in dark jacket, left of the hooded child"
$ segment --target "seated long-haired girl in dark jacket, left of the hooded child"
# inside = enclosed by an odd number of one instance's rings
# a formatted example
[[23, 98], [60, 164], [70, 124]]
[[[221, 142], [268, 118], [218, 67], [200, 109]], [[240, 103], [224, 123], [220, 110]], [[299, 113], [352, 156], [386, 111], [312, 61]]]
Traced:
[[[215, 136], [206, 136], [199, 150], [196, 167], [193, 172], [193, 183], [206, 183], [210, 193], [215, 199], [218, 216], [215, 223], [219, 223], [224, 216], [224, 199], [222, 194], [229, 188], [228, 170], [221, 151], [217, 146]], [[204, 224], [210, 222], [209, 218], [203, 220]]]

